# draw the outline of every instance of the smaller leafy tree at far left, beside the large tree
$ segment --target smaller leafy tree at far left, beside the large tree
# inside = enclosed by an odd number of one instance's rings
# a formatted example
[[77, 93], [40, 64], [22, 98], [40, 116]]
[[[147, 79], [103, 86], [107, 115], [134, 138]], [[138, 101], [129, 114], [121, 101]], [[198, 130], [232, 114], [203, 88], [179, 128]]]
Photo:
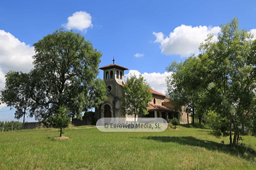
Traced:
[[[29, 113], [31, 98], [28, 97], [29, 93], [29, 74], [22, 72], [8, 72], [6, 74], [5, 89], [0, 91], [0, 101], [6, 103], [7, 106], [15, 108], [15, 118], [20, 119], [23, 117], [24, 129], [26, 114]], [[29, 115], [33, 117], [32, 114]]]

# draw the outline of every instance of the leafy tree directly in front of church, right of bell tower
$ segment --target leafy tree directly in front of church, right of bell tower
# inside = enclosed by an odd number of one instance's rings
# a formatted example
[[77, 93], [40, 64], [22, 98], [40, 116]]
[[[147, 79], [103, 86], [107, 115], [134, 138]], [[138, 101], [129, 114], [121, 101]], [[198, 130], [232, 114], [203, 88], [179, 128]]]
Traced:
[[139, 78], [135, 75], [128, 77], [127, 83], [124, 84], [121, 110], [124, 114], [134, 115], [134, 122], [137, 115], [148, 114], [147, 107], [152, 99], [149, 89], [150, 86], [142, 77], [142, 74], [139, 75]]

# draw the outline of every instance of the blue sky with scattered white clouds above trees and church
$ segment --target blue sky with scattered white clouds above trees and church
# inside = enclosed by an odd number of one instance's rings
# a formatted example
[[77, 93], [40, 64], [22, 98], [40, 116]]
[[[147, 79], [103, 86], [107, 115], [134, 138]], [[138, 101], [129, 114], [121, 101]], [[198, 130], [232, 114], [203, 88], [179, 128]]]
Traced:
[[[125, 74], [142, 73], [164, 94], [170, 74], [165, 67], [198, 54], [206, 35], [216, 35], [235, 16], [240, 28], [256, 35], [255, 1], [1, 1], [0, 89], [6, 72], [33, 67], [34, 42], [72, 28], [102, 52], [100, 67], [114, 56], [115, 64], [129, 68]], [[5, 120], [15, 120], [14, 111], [1, 105], [0, 121]]]

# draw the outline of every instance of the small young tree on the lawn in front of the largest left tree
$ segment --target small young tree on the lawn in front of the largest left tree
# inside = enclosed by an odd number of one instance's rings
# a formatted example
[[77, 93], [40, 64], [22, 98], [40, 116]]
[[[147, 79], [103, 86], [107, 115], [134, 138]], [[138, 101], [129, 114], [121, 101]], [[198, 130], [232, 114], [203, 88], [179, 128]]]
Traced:
[[63, 129], [67, 128], [70, 124], [70, 118], [68, 118], [68, 109], [65, 107], [60, 107], [58, 113], [53, 116], [54, 118], [54, 127], [60, 129], [60, 137], [64, 133]]

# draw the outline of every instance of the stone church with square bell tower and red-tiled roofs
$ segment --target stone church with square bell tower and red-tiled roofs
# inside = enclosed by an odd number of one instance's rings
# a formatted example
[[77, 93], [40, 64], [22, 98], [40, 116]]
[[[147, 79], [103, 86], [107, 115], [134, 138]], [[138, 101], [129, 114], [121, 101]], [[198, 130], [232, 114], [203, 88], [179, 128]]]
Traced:
[[[131, 115], [123, 115], [120, 112], [120, 100], [122, 96], [124, 82], [124, 71], [126, 67], [113, 64], [100, 67], [104, 71], [103, 79], [107, 86], [107, 100], [98, 108], [95, 108], [95, 120], [100, 118], [124, 118]], [[153, 89], [149, 89], [152, 94], [152, 100], [149, 102], [148, 115], [142, 115], [145, 118], [178, 118], [181, 123], [191, 123], [189, 113], [185, 112], [185, 108], [181, 108], [181, 112], [174, 110], [174, 106], [169, 101], [169, 98]], [[134, 117], [134, 116], [132, 116]], [[141, 117], [141, 116], [139, 116]]]

